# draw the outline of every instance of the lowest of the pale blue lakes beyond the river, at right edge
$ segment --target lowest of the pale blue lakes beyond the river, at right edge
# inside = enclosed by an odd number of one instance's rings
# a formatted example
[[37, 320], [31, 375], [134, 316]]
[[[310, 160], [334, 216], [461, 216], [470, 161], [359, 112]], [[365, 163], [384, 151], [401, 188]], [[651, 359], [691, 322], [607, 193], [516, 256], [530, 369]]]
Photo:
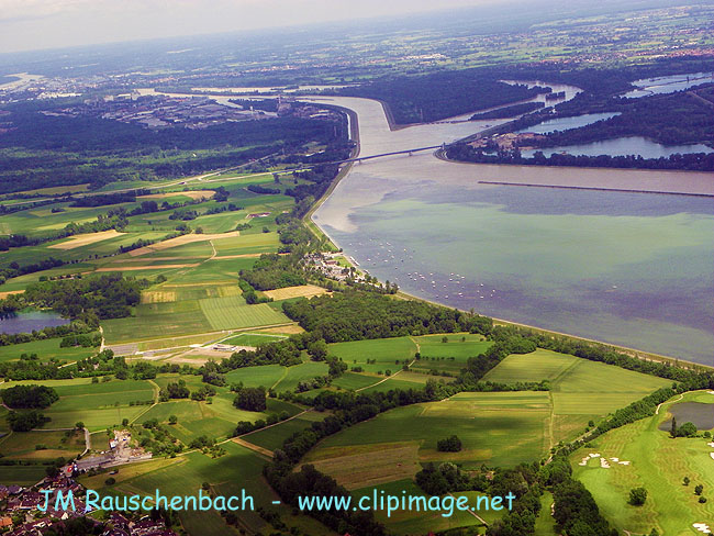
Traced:
[[570, 155], [587, 156], [627, 156], [639, 155], [643, 158], [667, 158], [670, 155], [687, 153], [712, 153], [714, 149], [703, 144], [691, 145], [661, 145], [642, 136], [618, 137], [605, 139], [604, 142], [592, 142], [580, 145], [561, 145], [558, 147], [546, 147], [543, 149], [522, 150], [524, 157], [531, 157], [536, 150], [550, 156], [555, 153], [568, 153]]

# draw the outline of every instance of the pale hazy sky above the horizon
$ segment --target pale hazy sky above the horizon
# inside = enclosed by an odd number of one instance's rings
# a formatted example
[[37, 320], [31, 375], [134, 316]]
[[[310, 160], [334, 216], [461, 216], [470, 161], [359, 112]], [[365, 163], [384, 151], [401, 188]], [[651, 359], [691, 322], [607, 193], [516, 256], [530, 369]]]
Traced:
[[499, 0], [0, 0], [0, 53], [390, 16]]

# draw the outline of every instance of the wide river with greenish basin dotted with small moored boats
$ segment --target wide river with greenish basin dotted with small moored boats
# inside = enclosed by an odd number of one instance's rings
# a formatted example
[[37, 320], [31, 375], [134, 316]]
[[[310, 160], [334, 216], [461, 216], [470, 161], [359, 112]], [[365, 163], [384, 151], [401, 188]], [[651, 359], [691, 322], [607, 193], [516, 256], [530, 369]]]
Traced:
[[[357, 113], [360, 156], [495, 123], [390, 131], [376, 101], [320, 100]], [[483, 180], [714, 194], [712, 174], [482, 166], [421, 153], [354, 165], [314, 221], [362, 269], [414, 295], [713, 364], [711, 197]]]

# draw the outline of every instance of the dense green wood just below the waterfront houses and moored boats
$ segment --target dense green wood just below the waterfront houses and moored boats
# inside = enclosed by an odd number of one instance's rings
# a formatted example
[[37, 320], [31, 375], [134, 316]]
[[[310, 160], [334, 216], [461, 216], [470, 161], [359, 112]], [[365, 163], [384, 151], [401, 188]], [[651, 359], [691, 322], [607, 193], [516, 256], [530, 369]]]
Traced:
[[286, 302], [282, 309], [327, 343], [461, 331], [487, 334], [492, 326], [484, 316], [357, 290]]

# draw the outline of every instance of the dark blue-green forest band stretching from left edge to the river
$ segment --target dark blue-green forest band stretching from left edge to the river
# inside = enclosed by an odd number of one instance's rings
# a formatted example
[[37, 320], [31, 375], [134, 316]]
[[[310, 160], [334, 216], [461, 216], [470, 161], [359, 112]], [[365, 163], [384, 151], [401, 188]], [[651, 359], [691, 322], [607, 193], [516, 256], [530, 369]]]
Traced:
[[289, 153], [342, 136], [333, 123], [299, 118], [228, 122], [196, 131], [149, 130], [87, 116], [45, 115], [66, 103], [5, 107], [12, 127], [0, 136], [0, 193], [89, 182], [177, 178]]

